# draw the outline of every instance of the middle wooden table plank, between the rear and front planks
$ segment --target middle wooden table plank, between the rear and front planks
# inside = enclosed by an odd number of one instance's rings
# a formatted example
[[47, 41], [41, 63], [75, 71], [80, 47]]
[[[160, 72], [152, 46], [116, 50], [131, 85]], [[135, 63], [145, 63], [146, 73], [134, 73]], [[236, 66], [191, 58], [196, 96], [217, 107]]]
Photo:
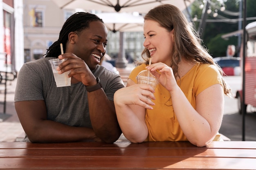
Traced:
[[92, 148], [92, 149], [1, 149], [0, 157], [79, 158], [79, 157], [230, 157], [256, 158], [255, 149], [190, 148]]

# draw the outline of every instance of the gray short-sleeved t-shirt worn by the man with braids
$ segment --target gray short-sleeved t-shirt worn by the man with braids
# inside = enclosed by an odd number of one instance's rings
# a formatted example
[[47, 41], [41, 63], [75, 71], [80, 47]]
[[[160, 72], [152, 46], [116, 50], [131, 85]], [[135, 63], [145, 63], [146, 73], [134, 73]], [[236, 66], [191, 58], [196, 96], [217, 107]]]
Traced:
[[[47, 119], [69, 126], [92, 128], [85, 85], [79, 82], [67, 87], [56, 87], [48, 61], [51, 59], [53, 57], [42, 58], [22, 66], [18, 73], [14, 102], [44, 100]], [[113, 101], [114, 93], [124, 87], [121, 77], [100, 65], [92, 73], [100, 78], [108, 99]]]

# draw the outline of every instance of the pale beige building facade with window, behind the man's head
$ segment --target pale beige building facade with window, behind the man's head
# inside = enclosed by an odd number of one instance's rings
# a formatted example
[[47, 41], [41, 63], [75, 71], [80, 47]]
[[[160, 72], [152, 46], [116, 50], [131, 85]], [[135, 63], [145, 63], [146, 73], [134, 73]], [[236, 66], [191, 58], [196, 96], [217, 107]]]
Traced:
[[23, 1], [24, 62], [29, 62], [44, 57], [74, 11], [61, 10], [51, 0]]

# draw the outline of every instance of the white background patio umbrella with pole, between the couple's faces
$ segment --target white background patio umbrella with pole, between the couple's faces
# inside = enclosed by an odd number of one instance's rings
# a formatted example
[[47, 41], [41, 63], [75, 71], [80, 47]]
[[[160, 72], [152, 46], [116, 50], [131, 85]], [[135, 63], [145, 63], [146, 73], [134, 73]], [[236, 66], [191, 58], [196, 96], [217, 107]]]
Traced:
[[109, 31], [116, 32], [119, 31], [119, 54], [117, 60], [115, 61], [117, 68], [125, 68], [127, 61], [125, 58], [125, 36], [124, 32], [131, 31], [143, 31], [144, 18], [141, 15], [132, 15], [132, 13], [97, 13], [99, 18], [101, 18], [108, 28]]

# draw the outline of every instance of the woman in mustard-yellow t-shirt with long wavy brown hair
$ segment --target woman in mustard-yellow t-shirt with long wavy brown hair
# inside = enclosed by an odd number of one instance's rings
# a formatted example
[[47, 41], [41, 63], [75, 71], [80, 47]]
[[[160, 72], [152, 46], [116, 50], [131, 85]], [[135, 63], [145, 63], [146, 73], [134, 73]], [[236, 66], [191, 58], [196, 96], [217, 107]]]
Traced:
[[[144, 20], [144, 63], [114, 95], [121, 130], [134, 143], [190, 141], [205, 146], [220, 128], [224, 94], [231, 95], [222, 70], [177, 7], [160, 5]], [[136, 84], [136, 76], [146, 69], [159, 80], [155, 90]]]

